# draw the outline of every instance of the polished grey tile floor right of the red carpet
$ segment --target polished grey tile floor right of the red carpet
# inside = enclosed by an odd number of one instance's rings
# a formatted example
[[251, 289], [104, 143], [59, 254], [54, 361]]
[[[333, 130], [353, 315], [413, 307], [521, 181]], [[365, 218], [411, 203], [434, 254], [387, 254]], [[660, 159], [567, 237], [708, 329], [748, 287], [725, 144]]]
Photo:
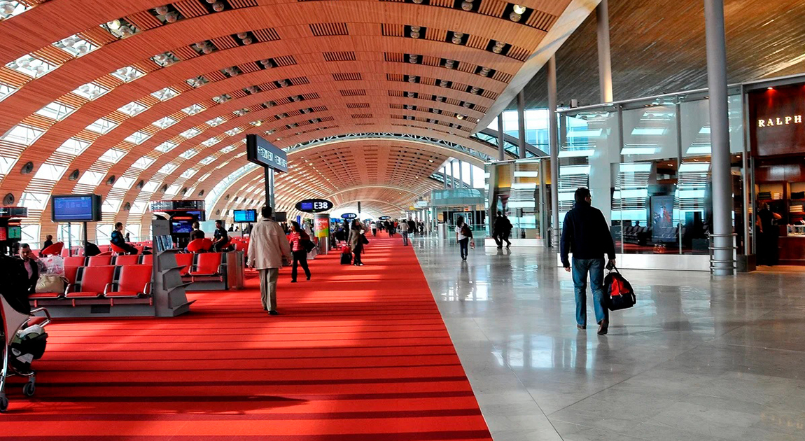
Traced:
[[546, 249], [413, 245], [497, 441], [805, 439], [805, 273], [629, 270], [597, 336]]

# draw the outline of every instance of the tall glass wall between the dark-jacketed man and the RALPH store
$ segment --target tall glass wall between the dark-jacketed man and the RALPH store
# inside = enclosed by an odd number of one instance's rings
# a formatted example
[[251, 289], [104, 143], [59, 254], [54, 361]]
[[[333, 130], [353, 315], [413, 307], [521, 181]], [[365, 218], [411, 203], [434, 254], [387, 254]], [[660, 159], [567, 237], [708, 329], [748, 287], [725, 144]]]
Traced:
[[[743, 241], [740, 88], [729, 97], [733, 226]], [[709, 253], [711, 146], [706, 92], [646, 98], [559, 116], [559, 219], [576, 188], [611, 222], [617, 253]]]

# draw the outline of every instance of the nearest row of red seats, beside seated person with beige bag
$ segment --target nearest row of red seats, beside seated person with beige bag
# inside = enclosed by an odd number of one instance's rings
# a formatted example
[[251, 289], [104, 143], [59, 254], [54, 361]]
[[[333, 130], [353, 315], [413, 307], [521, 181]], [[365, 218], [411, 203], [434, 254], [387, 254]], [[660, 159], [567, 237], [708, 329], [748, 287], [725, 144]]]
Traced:
[[39, 300], [139, 299], [151, 296], [151, 265], [65, 266], [68, 285], [64, 292], [36, 293], [29, 296], [35, 306]]

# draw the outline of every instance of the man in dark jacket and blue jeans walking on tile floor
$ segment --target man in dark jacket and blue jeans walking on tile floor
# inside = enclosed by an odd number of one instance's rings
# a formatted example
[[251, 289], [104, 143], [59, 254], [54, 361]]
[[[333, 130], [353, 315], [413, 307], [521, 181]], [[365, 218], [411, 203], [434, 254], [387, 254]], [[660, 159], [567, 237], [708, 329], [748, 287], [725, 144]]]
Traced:
[[[604, 303], [604, 254], [609, 264], [615, 265], [615, 243], [609, 233], [604, 214], [591, 205], [592, 197], [587, 188], [576, 190], [576, 205], [564, 216], [562, 228], [562, 265], [573, 274], [576, 287], [576, 328], [587, 328], [587, 273], [590, 274], [593, 310], [599, 324], [598, 334], [604, 335], [609, 328], [609, 314]], [[573, 253], [571, 269], [568, 254]]]

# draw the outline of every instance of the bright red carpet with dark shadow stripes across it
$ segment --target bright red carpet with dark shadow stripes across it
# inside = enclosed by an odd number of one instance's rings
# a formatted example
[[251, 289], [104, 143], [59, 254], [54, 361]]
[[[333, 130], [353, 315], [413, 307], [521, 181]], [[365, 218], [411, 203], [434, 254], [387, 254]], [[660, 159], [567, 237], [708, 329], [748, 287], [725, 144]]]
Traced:
[[413, 249], [370, 241], [365, 266], [283, 269], [281, 315], [252, 277], [173, 319], [57, 320], [0, 439], [491, 439]]

